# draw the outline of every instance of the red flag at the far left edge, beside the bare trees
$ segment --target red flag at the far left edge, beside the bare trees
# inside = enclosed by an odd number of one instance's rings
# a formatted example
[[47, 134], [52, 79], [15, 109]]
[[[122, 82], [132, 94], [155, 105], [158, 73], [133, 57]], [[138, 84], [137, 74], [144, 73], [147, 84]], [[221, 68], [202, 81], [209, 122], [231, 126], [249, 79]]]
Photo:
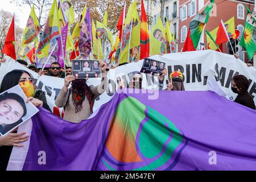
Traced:
[[2, 53], [16, 60], [14, 16], [5, 39], [5, 46], [3, 46]]

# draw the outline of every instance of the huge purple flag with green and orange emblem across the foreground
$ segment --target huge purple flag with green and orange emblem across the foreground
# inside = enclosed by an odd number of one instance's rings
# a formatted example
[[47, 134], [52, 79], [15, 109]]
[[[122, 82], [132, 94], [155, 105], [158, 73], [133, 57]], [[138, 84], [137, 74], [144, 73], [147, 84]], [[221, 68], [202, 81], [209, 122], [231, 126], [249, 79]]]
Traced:
[[255, 110], [211, 91], [130, 92], [79, 124], [40, 109], [8, 169], [256, 170]]

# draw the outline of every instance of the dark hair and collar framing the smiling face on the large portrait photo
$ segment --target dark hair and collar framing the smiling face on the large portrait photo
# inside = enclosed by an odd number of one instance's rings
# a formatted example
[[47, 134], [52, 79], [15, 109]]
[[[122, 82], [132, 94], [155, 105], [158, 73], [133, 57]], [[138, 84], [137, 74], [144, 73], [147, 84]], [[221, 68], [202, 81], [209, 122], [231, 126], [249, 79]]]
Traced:
[[1, 132], [2, 134], [7, 133], [10, 130], [13, 130], [15, 127], [17, 127], [20, 123], [22, 123], [22, 118], [27, 114], [27, 107], [26, 104], [23, 100], [22, 97], [20, 97], [18, 94], [16, 93], [4, 93], [2, 95], [0, 95], [0, 102], [7, 100], [7, 99], [11, 99], [11, 100], [15, 100], [17, 102], [19, 102], [20, 106], [22, 106], [23, 108], [23, 115], [22, 117], [19, 119], [19, 121], [16, 121], [15, 123], [11, 124], [11, 125], [6, 125], [3, 127], [3, 131], [5, 132]]

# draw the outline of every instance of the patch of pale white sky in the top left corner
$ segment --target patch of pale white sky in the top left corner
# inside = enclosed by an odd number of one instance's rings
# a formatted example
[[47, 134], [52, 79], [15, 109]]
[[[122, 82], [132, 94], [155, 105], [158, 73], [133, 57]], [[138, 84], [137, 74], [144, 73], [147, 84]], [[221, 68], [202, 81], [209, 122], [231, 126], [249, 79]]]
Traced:
[[30, 15], [30, 6], [18, 7], [15, 3], [10, 3], [10, 0], [1, 1], [0, 9], [15, 13], [15, 18], [19, 20], [19, 27], [25, 28], [27, 24], [28, 16]]

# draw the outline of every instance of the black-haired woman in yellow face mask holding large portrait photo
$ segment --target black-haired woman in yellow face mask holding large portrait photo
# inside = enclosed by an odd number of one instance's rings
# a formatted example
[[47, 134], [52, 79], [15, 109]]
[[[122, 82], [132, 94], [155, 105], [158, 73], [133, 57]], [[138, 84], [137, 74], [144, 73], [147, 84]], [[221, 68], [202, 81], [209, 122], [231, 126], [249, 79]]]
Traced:
[[[20, 85], [23, 92], [28, 97], [27, 102], [32, 102], [36, 107], [43, 106], [44, 109], [49, 109], [46, 101], [46, 96], [42, 90], [36, 90], [33, 84], [33, 78], [30, 73], [23, 70], [14, 70], [5, 75], [0, 86], [0, 93], [13, 88], [16, 85]], [[1, 119], [1, 118], [0, 118]], [[10, 159], [11, 151], [13, 146], [23, 147], [23, 142], [28, 140], [26, 133], [13, 133], [7, 134], [5, 137], [0, 137], [0, 171], [5, 171]]]

